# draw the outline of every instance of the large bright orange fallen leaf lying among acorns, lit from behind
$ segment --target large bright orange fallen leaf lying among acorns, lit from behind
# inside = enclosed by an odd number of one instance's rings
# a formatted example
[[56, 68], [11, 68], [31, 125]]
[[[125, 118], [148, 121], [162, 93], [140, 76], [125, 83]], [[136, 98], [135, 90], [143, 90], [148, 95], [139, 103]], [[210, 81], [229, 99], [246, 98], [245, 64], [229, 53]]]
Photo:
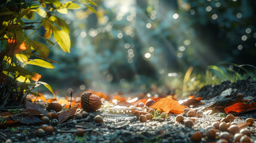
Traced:
[[189, 108], [185, 105], [181, 105], [178, 101], [175, 101], [171, 98], [161, 98], [154, 102], [150, 108], [155, 110], [162, 110], [165, 113], [181, 114], [183, 113], [184, 108]]

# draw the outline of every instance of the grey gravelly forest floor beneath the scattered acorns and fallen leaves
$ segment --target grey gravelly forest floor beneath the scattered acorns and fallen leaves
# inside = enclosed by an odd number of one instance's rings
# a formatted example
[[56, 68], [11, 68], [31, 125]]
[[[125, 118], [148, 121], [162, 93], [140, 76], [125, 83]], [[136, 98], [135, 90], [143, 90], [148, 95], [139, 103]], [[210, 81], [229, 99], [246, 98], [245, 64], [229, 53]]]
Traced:
[[[0, 142], [193, 142], [192, 140], [195, 139], [191, 140], [190, 138], [196, 131], [199, 131], [202, 135], [202, 138], [200, 136], [196, 137], [199, 138], [198, 142], [221, 142], [221, 133], [224, 131], [216, 129], [214, 138], [209, 137], [207, 134], [212, 129], [212, 123], [222, 122], [224, 117], [228, 115], [227, 113], [215, 110], [215, 107], [218, 107], [218, 110], [224, 111], [224, 109], [226, 110], [227, 104], [233, 105], [236, 102], [245, 104], [245, 101], [251, 102], [255, 100], [255, 95], [254, 97], [251, 94], [249, 94], [250, 96], [246, 96], [248, 95], [246, 92], [251, 93], [251, 89], [256, 87], [255, 82], [245, 83], [245, 81], [242, 81], [242, 83], [239, 83], [238, 88], [234, 88], [235, 86], [232, 86], [232, 84], [223, 83], [223, 86], [217, 87], [205, 86], [205, 88], [199, 91], [198, 97], [200, 95], [214, 93], [214, 91], [216, 95], [209, 99], [213, 101], [213, 104], [209, 103], [209, 100], [202, 100], [199, 102], [204, 102], [205, 105], [190, 108], [196, 111], [202, 110], [203, 108], [205, 110], [203, 117], [187, 117], [186, 114], [182, 114], [184, 121], [187, 119], [193, 120], [194, 125], [192, 127], [186, 126], [184, 122], [177, 122], [175, 119], [177, 114], [169, 113], [165, 119], [158, 117], [147, 120], [146, 122], [140, 122], [138, 117], [134, 116], [132, 112], [134, 110], [141, 111], [141, 107], [111, 107], [100, 108], [98, 111], [89, 113], [84, 119], [76, 119], [75, 116], [70, 116], [65, 122], [61, 122], [58, 125], [49, 123], [49, 126], [53, 126], [54, 132], [52, 135], [44, 135], [42, 137], [36, 135], [36, 130], [42, 127], [42, 123], [24, 124], [27, 121], [23, 123], [20, 123], [20, 121], [14, 125], [1, 126]], [[243, 88], [240, 88], [241, 84]], [[245, 84], [252, 87], [246, 90], [244, 88]], [[236, 96], [238, 94], [237, 91], [243, 92], [244, 96], [241, 99]], [[202, 92], [205, 92], [205, 94], [201, 94]], [[193, 99], [193, 101], [196, 99]], [[188, 103], [192, 104], [192, 102], [186, 102], [186, 104]], [[211, 108], [207, 109], [206, 107]], [[94, 117], [97, 115], [103, 117], [103, 123], [95, 123]], [[250, 142], [256, 142], [256, 125], [246, 123], [246, 119], [248, 118], [256, 119], [255, 108], [235, 113], [235, 120], [233, 122], [227, 122], [226, 125], [238, 125], [239, 129], [237, 132], [243, 128], [248, 129], [251, 132], [249, 136], [251, 139]], [[83, 136], [75, 135], [77, 128], [84, 129]], [[229, 129], [225, 131], [230, 132], [230, 135], [232, 135], [232, 131]], [[233, 142], [233, 139], [234, 135], [231, 136], [229, 142]]]

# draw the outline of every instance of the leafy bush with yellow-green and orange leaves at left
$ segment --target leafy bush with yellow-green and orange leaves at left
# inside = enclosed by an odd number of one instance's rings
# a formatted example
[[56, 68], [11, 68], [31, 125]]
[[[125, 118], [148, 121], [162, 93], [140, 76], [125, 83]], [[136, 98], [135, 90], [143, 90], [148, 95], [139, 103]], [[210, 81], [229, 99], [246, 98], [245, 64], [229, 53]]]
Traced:
[[[57, 43], [64, 52], [70, 52], [71, 46], [69, 25], [57, 13], [67, 14], [68, 10], [80, 9], [80, 5], [97, 13], [90, 4], [97, 6], [95, 2], [86, 0], [1, 1], [1, 106], [7, 104], [9, 98], [13, 98], [14, 92], [19, 94], [18, 97], [27, 93], [39, 96], [31, 91], [39, 85], [44, 85], [54, 94], [50, 85], [39, 81], [41, 74], [33, 72], [35, 67], [32, 71], [25, 67], [33, 65], [54, 69], [52, 63], [56, 62], [48, 58], [51, 46]], [[44, 30], [42, 27], [45, 29], [44, 36], [37, 35], [38, 30]]]

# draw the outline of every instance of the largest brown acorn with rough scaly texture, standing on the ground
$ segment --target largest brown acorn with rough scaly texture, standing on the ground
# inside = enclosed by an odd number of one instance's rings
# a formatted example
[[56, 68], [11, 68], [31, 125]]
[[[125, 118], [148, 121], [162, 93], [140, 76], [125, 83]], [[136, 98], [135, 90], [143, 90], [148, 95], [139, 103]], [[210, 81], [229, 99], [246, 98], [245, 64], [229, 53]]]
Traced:
[[97, 95], [92, 94], [91, 92], [84, 92], [81, 95], [81, 107], [84, 111], [94, 112], [101, 108], [101, 100]]

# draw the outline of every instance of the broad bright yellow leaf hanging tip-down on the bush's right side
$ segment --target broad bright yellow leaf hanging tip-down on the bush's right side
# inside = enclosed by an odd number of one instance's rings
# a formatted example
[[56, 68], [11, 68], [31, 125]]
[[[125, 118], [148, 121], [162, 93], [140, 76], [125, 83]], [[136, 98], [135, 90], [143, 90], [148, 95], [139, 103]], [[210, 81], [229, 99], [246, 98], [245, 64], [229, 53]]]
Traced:
[[71, 44], [68, 33], [64, 32], [64, 30], [53, 30], [53, 36], [64, 52], [70, 52]]

